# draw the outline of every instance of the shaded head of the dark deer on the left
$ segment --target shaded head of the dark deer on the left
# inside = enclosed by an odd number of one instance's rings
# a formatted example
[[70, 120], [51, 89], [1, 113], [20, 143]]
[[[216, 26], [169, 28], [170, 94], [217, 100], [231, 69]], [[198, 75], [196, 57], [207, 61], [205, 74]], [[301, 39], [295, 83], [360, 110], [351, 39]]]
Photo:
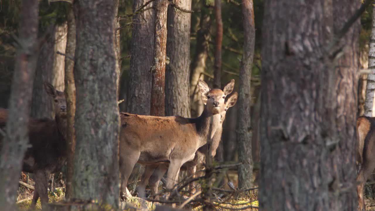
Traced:
[[66, 98], [64, 92], [55, 89], [52, 84], [44, 82], [44, 89], [53, 98], [55, 115], [65, 118], [66, 117]]

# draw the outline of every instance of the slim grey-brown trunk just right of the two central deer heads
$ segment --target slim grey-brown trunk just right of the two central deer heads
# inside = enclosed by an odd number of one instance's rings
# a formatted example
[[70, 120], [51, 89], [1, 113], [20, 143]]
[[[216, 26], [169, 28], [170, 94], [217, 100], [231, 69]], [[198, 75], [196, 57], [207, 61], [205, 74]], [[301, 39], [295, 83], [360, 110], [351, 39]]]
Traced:
[[250, 188], [253, 185], [253, 159], [251, 155], [251, 69], [255, 46], [255, 24], [253, 0], [242, 1], [243, 13], [243, 57], [240, 66], [239, 110], [237, 124], [238, 187]]

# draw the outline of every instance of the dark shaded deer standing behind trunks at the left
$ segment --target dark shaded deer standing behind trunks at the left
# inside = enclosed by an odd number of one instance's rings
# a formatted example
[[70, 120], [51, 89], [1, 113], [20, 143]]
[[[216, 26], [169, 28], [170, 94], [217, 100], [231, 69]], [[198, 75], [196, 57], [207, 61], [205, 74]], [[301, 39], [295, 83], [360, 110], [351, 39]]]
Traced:
[[[40, 197], [42, 206], [48, 203], [48, 179], [51, 173], [60, 171], [66, 161], [66, 98], [64, 92], [44, 83], [46, 92], [53, 98], [55, 120], [30, 119], [28, 137], [30, 148], [25, 152], [22, 170], [34, 173], [35, 190], [30, 209], [35, 208]], [[0, 127], [8, 118], [7, 109], [0, 109]]]

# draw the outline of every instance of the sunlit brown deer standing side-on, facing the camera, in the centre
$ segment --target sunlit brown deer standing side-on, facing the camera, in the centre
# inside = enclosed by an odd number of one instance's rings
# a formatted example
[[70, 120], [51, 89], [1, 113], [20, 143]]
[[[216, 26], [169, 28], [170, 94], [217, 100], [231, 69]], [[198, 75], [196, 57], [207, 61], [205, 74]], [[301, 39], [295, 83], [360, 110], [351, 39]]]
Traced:
[[137, 162], [145, 165], [169, 163], [166, 188], [171, 189], [182, 164], [193, 160], [197, 149], [207, 143], [211, 119], [212, 138], [220, 124], [225, 97], [233, 87], [234, 80], [231, 80], [223, 90], [210, 90], [204, 81], [199, 80], [198, 88], [205, 108], [198, 118], [120, 113], [121, 198], [131, 196], [126, 185]]

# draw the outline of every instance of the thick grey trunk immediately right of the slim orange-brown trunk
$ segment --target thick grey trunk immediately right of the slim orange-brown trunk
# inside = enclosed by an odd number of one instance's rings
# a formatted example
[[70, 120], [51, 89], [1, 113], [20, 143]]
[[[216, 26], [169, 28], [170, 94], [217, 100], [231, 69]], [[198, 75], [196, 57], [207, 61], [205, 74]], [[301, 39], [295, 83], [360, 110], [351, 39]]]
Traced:
[[[191, 0], [177, 1], [183, 9], [191, 10]], [[172, 6], [168, 8], [166, 54], [169, 65], [165, 72], [165, 115], [190, 118], [189, 65], [191, 14]]]

